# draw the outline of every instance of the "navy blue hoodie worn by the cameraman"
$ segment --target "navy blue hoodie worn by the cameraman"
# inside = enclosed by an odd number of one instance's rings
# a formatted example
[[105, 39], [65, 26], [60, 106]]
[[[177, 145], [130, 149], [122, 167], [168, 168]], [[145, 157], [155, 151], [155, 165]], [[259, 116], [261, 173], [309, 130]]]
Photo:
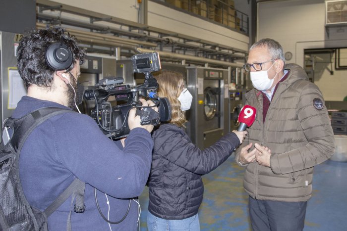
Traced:
[[[12, 117], [20, 118], [49, 106], [67, 108], [52, 101], [23, 96]], [[143, 128], [133, 129], [121, 150], [106, 138], [91, 117], [63, 113], [39, 125], [24, 143], [19, 159], [20, 181], [29, 204], [43, 211], [77, 177], [86, 183], [86, 209], [84, 213], [75, 213], [72, 209], [72, 230], [110, 230], [97, 210], [94, 187], [105, 217], [114, 222], [120, 220], [129, 205], [127, 198], [139, 196], [146, 184], [152, 148], [151, 134]], [[66, 230], [70, 210], [71, 197], [48, 218], [49, 230]], [[135, 231], [137, 219], [138, 205], [132, 200], [124, 221], [110, 226], [113, 231]]]

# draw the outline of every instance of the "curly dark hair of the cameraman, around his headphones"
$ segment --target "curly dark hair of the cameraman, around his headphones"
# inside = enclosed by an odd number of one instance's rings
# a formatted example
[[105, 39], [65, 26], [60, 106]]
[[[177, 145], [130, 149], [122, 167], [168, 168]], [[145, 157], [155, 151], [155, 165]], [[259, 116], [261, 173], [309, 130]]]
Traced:
[[79, 48], [76, 38], [62, 28], [30, 31], [23, 36], [17, 48], [18, 72], [27, 88], [33, 84], [39, 87], [52, 87], [55, 70], [47, 65], [45, 52], [53, 43], [66, 45], [73, 55], [73, 63], [66, 71], [73, 69], [77, 61], [84, 61], [85, 50]]

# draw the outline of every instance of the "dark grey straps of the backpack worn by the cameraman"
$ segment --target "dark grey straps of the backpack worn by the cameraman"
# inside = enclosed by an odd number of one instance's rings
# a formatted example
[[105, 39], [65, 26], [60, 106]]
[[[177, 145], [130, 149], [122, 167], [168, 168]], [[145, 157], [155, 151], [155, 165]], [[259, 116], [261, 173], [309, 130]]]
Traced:
[[[22, 146], [25, 142], [25, 140], [28, 138], [30, 133], [41, 123], [45, 122], [48, 118], [53, 117], [58, 114], [62, 113], [76, 113], [75, 111], [64, 109], [64, 108], [58, 108], [58, 107], [44, 107], [40, 108], [36, 111], [33, 111], [20, 119], [17, 120], [10, 120], [10, 123], [13, 123], [13, 137], [10, 139], [9, 142], [11, 142], [12, 147], [17, 152], [17, 158], [16, 158], [16, 166], [19, 166], [19, 156], [20, 151], [22, 149]], [[29, 128], [29, 129], [28, 129]], [[19, 179], [19, 168], [16, 168], [16, 174]], [[21, 192], [22, 186], [20, 181], [18, 182]], [[75, 179], [55, 200], [50, 204], [45, 211], [43, 212], [44, 216], [48, 218], [55, 210], [58, 209], [58, 207], [72, 194], [72, 201], [73, 202], [75, 196], [76, 196], [76, 204], [74, 205], [74, 211], [83, 213], [85, 210], [84, 205], [84, 189], [85, 189], [85, 183], [81, 182], [79, 179]], [[27, 202], [28, 203], [28, 202]], [[30, 206], [30, 205], [29, 205]], [[71, 210], [72, 210], [72, 204], [71, 204]], [[67, 230], [71, 230], [71, 210], [68, 216], [67, 220]]]

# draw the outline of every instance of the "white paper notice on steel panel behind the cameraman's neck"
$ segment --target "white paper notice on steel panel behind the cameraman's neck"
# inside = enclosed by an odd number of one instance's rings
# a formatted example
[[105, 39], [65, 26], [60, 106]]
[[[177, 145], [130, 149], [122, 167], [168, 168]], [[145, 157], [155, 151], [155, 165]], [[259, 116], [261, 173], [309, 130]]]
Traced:
[[8, 104], [7, 109], [14, 109], [22, 96], [27, 94], [23, 80], [15, 67], [8, 68]]

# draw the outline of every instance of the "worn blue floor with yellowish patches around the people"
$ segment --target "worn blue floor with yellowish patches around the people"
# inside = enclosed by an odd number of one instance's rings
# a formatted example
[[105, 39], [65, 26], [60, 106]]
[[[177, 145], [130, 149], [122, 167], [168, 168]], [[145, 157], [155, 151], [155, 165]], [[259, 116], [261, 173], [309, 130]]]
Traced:
[[[199, 209], [201, 231], [249, 231], [244, 169], [233, 155], [203, 177], [205, 193]], [[313, 196], [308, 201], [304, 231], [347, 231], [347, 162], [328, 160], [314, 168]], [[141, 231], [147, 231], [148, 187], [139, 198]]]

